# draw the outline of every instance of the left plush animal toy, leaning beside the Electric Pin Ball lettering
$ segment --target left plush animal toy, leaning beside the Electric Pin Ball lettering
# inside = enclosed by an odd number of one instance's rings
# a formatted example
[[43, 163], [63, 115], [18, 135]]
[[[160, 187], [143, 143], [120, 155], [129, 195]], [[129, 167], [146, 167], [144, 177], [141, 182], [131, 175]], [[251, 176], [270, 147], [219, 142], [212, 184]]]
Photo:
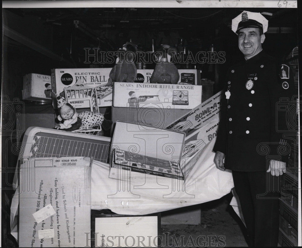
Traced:
[[127, 42], [118, 51], [120, 52], [120, 56], [118, 56], [116, 64], [111, 69], [107, 86], [111, 86], [114, 82], [132, 83], [137, 76], [135, 65], [137, 45]]

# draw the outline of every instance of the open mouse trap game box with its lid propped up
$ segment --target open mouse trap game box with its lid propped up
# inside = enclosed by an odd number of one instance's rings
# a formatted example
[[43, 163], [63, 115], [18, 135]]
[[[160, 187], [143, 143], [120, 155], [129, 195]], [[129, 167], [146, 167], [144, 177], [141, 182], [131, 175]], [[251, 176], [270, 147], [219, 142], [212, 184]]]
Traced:
[[[123, 133], [123, 135], [120, 135]], [[117, 121], [111, 145], [110, 178], [140, 182], [155, 178], [183, 183], [181, 132]]]

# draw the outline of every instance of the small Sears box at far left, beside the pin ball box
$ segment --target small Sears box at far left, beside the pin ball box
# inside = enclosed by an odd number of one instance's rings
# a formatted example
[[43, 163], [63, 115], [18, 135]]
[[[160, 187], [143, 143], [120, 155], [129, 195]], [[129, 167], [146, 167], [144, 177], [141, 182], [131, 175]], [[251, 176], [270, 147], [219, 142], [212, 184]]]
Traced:
[[51, 102], [51, 90], [49, 75], [30, 73], [23, 77], [23, 100]]

